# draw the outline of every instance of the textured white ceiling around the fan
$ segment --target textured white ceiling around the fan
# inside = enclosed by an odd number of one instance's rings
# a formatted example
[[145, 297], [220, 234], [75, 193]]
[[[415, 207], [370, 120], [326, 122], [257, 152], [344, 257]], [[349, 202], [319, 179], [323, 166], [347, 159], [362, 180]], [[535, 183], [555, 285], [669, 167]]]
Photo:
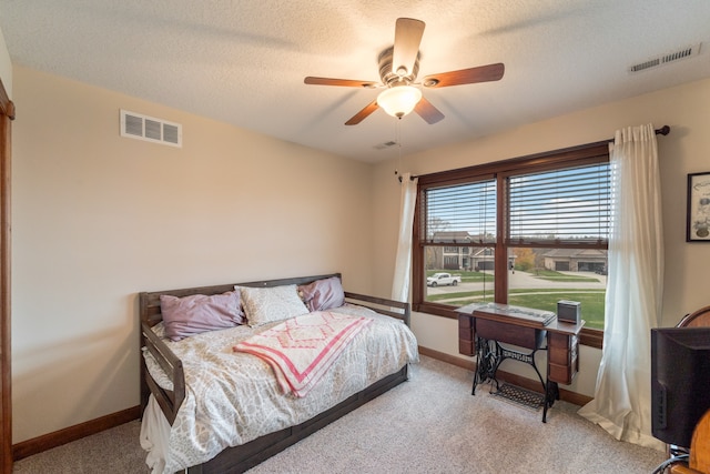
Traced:
[[[494, 62], [504, 78], [424, 90], [446, 115], [433, 125], [382, 110], [344, 125], [378, 90], [303, 79], [378, 81], [398, 17], [426, 23], [419, 78]], [[408, 154], [708, 78], [708, 0], [0, 0], [14, 64], [372, 162], [397, 137]]]

